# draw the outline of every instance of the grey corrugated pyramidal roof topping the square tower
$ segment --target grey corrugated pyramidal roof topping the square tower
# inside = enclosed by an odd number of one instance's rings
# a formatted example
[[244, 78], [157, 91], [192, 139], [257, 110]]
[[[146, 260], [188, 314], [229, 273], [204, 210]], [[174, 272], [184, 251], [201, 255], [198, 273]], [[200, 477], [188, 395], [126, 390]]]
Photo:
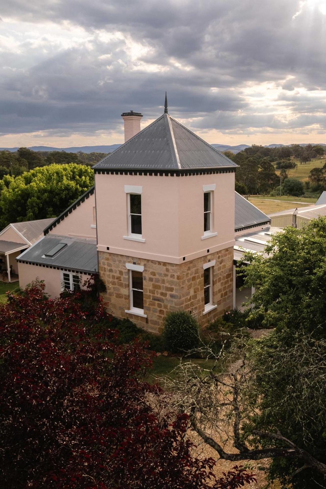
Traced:
[[227, 156], [164, 113], [93, 168], [185, 170], [236, 166]]

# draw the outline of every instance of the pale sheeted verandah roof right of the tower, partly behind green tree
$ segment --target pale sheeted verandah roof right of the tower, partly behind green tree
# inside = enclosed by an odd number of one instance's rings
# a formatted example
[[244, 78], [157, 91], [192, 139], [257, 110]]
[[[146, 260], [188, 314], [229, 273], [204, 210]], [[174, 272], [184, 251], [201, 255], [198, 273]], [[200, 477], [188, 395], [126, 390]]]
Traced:
[[241, 237], [235, 238], [235, 244], [233, 248], [233, 260], [241, 261], [243, 263], [247, 263], [243, 259], [244, 253], [247, 251], [253, 251], [254, 253], [261, 253], [262, 255], [266, 255], [264, 253], [265, 246], [270, 241], [273, 234], [277, 232], [283, 231], [279, 227], [268, 227], [259, 232], [250, 232], [247, 234], [243, 234]]

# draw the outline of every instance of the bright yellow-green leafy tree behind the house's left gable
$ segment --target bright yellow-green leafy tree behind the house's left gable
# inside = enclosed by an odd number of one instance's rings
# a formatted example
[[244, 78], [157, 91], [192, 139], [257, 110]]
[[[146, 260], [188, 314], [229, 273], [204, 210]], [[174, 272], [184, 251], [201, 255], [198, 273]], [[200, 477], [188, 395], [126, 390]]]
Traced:
[[57, 217], [93, 185], [93, 170], [75, 163], [35, 168], [5, 176], [0, 194], [0, 226]]

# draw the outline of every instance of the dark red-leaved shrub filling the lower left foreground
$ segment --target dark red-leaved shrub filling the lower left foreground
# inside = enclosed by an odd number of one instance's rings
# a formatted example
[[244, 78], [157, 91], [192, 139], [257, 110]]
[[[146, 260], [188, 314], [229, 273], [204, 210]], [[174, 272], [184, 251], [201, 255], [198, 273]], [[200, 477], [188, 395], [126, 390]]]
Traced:
[[[0, 305], [0, 480], [4, 488], [233, 489], [254, 480], [234, 467], [216, 480], [191, 455], [188, 417], [159, 415], [160, 389], [142, 380], [151, 358], [116, 345], [101, 303], [54, 300], [32, 285]], [[235, 484], [236, 482], [236, 484]]]

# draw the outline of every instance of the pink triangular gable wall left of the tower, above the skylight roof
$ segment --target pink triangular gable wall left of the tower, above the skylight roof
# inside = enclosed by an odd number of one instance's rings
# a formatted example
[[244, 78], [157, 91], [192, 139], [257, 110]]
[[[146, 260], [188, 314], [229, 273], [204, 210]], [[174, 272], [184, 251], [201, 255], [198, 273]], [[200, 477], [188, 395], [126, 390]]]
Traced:
[[91, 227], [93, 222], [93, 207], [95, 207], [95, 195], [90, 195], [68, 217], [59, 222], [50, 234], [60, 236], [79, 236], [83, 238], [96, 238], [96, 229]]

